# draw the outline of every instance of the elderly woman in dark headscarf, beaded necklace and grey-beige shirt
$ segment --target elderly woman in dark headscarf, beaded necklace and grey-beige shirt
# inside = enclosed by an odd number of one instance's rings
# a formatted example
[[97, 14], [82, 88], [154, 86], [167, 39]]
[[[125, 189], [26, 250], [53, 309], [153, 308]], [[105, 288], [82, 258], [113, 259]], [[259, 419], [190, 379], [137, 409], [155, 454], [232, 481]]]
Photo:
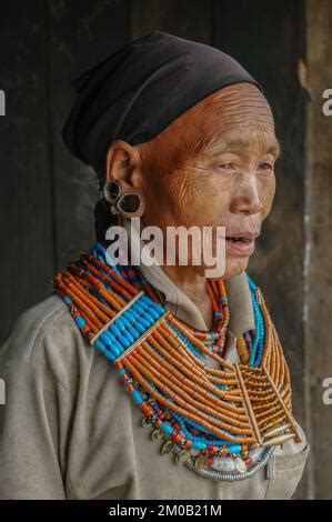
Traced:
[[[290, 499], [309, 444], [245, 272], [279, 154], [260, 86], [223, 52], [153, 31], [76, 88], [63, 137], [99, 175], [99, 242], [2, 351], [1, 496]], [[178, 248], [175, 263], [117, 262], [111, 224], [131, 261], [145, 245], [133, 218], [164, 241], [224, 227], [223, 273]]]

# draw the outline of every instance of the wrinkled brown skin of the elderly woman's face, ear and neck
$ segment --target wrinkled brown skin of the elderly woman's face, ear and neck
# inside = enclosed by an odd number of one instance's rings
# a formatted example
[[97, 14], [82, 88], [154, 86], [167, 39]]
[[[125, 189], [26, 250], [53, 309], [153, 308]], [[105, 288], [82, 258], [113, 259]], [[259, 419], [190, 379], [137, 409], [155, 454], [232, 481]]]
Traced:
[[[149, 142], [112, 142], [107, 179], [118, 180], [123, 191], [141, 192], [144, 205], [138, 215], [143, 225], [163, 231], [168, 225], [223, 225], [227, 237], [260, 233], [274, 198], [278, 154], [268, 101], [255, 86], [238, 83], [205, 98]], [[223, 279], [243, 272], [249, 258], [227, 244]], [[210, 328], [204, 269], [163, 267]]]

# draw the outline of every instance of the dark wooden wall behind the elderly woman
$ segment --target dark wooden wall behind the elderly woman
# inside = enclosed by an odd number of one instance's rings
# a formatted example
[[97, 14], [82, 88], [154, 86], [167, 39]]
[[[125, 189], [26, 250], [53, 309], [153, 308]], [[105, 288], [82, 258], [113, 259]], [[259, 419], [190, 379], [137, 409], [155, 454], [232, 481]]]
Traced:
[[[332, 119], [323, 122], [325, 153], [316, 163], [320, 107], [310, 102], [298, 78], [299, 60], [305, 62], [309, 56], [314, 71], [321, 60], [318, 97], [321, 88], [332, 88], [331, 58], [323, 62], [321, 46], [323, 39], [323, 49], [331, 49], [331, 2], [30, 0], [29, 9], [20, 8], [18, 0], [1, 1], [0, 89], [7, 96], [7, 116], [0, 118], [1, 340], [20, 312], [51, 292], [54, 272], [94, 240], [95, 179], [71, 158], [60, 137], [73, 99], [70, 79], [153, 29], [213, 44], [239, 59], [262, 83], [273, 107], [283, 150], [278, 192], [249, 273], [262, 287], [290, 361], [295, 416], [314, 438], [315, 454], [296, 495], [332, 496], [328, 443], [332, 408], [331, 413], [326, 406], [322, 410], [319, 385], [322, 377], [329, 377], [324, 371], [331, 368], [332, 357], [326, 349], [324, 355], [316, 354], [329, 339], [319, 328], [320, 307], [331, 312], [331, 298], [326, 293], [325, 300], [319, 300], [314, 293], [316, 281], [321, 295], [328, 284], [331, 289], [331, 263], [325, 259], [320, 265], [315, 260], [304, 267], [309, 235], [314, 233], [320, 241], [323, 232], [329, 233], [332, 158], [326, 137], [331, 144]], [[324, 68], [330, 68], [330, 76], [324, 76]], [[329, 80], [330, 86], [321, 86], [320, 80]], [[309, 150], [316, 155], [309, 158]], [[316, 228], [309, 231], [311, 213]], [[320, 248], [323, 259], [322, 242]], [[304, 313], [308, 308], [310, 318], [318, 321], [314, 332]], [[324, 318], [328, 328], [326, 312]], [[311, 368], [314, 383], [309, 379]], [[310, 402], [312, 387], [315, 393]], [[319, 415], [313, 413], [316, 402]], [[322, 471], [326, 459], [330, 469]]]

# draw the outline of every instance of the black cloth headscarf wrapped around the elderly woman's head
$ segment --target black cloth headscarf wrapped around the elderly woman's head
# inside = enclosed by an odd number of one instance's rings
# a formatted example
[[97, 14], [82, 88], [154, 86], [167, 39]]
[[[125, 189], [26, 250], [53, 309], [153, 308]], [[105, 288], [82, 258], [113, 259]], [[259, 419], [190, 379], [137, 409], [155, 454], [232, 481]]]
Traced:
[[261, 89], [224, 52], [153, 31], [73, 80], [78, 98], [62, 137], [76, 157], [103, 177], [113, 140], [149, 141], [212, 92], [240, 82]]

